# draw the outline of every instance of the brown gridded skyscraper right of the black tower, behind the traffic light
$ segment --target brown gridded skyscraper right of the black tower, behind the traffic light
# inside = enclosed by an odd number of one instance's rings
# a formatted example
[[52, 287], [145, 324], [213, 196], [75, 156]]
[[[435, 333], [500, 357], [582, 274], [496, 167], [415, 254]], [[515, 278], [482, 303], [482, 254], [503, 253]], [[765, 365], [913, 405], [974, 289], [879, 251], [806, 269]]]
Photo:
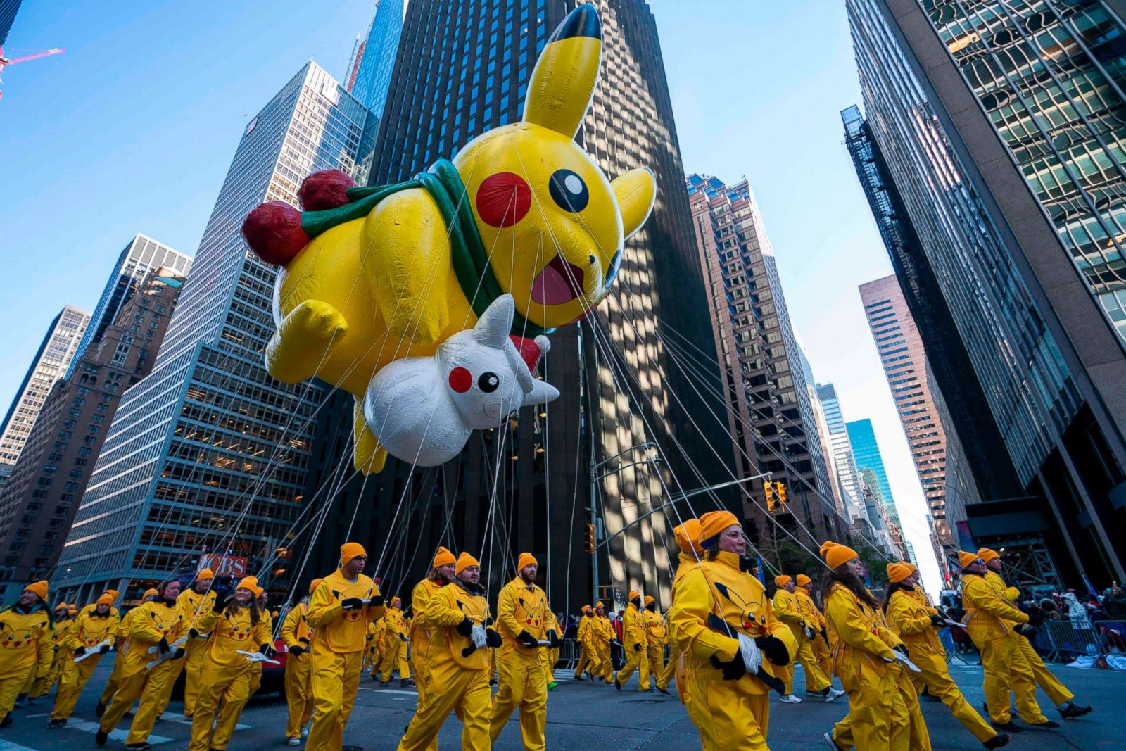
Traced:
[[[775, 519], [815, 548], [839, 538], [847, 524], [837, 522], [804, 356], [789, 323], [758, 202], [745, 178], [727, 186], [717, 177], [692, 173], [687, 188], [716, 357], [725, 379], [734, 381], [732, 387], [715, 393], [726, 397], [733, 464], [742, 477], [772, 472], [771, 482], [786, 483], [789, 502]], [[776, 536], [762, 482], [742, 486], [748, 534], [754, 543]]]

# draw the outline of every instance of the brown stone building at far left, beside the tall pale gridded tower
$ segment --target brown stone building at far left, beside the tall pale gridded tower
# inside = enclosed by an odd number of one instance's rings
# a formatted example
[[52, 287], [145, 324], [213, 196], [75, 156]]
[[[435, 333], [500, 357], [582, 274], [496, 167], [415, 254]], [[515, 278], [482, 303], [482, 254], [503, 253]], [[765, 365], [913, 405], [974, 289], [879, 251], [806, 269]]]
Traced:
[[122, 395], [152, 370], [182, 286], [176, 269], [157, 269], [134, 285], [98, 343], [47, 395], [0, 490], [0, 602], [48, 578]]

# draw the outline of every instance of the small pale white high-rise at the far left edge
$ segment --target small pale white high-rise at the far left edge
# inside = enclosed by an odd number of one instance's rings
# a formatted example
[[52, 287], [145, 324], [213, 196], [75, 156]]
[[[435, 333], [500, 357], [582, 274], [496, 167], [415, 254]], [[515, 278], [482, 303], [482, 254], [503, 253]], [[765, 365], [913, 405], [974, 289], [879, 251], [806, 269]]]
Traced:
[[19, 458], [51, 386], [66, 374], [89, 323], [89, 313], [70, 305], [51, 321], [16, 397], [11, 400], [3, 422], [0, 422], [0, 464], [11, 465]]

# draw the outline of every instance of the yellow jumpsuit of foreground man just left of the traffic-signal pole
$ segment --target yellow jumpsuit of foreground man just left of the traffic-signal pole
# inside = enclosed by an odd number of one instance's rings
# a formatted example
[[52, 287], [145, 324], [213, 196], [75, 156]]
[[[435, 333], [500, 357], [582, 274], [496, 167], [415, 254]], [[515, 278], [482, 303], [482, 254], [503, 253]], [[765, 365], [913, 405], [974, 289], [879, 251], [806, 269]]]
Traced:
[[543, 751], [544, 725], [547, 722], [547, 679], [538, 647], [516, 641], [528, 632], [537, 641], [546, 634], [546, 617], [551, 611], [547, 596], [536, 584], [517, 576], [501, 588], [497, 597], [497, 626], [504, 640], [497, 651], [500, 690], [493, 696], [489, 734], [495, 743], [504, 724], [520, 708], [520, 737], [525, 751]]

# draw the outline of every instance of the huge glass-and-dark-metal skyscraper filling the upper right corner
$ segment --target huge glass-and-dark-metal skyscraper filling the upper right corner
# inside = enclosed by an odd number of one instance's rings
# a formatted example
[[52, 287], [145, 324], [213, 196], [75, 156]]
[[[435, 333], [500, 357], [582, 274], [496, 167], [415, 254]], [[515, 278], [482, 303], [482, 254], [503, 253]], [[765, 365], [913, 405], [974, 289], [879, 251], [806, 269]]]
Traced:
[[[1001, 435], [1013, 494], [1030, 497], [1019, 542], [1047, 544], [1065, 578], [1120, 580], [1126, 26], [1098, 0], [848, 0], [848, 14], [872, 138], [966, 349], [963, 377], [981, 384]], [[1015, 526], [990, 506], [967, 507], [969, 527], [1006, 545]]]

